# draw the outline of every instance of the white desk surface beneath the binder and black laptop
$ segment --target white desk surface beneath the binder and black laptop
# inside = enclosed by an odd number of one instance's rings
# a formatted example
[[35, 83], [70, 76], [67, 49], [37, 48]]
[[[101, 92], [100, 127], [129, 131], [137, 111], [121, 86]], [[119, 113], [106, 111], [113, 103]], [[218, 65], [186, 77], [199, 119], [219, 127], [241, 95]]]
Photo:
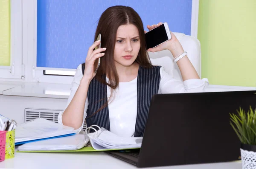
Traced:
[[[15, 158], [0, 162], [0, 168], [15, 169], [136, 169], [129, 163], [113, 158], [104, 152], [74, 153], [23, 153], [15, 152]], [[241, 162], [207, 163], [183, 166], [164, 166], [150, 169], [241, 169]]]

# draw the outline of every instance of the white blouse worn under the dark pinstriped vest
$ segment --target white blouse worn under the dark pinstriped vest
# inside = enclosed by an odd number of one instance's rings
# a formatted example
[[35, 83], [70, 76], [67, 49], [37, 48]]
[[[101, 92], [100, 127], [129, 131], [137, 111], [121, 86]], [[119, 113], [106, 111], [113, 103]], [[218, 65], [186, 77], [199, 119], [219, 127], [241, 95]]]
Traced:
[[[158, 94], [162, 93], [199, 93], [204, 92], [208, 87], [208, 79], [189, 79], [180, 82], [170, 76], [163, 67], [160, 68], [160, 84]], [[76, 90], [79, 87], [80, 80], [83, 77], [81, 65], [76, 69], [76, 74], [72, 82], [70, 97], [67, 101], [67, 106], [73, 99]], [[106, 79], [108, 82], [108, 78]], [[107, 87], [107, 96], [110, 97], [111, 90]], [[137, 117], [137, 77], [130, 82], [119, 82], [119, 87], [114, 91], [114, 95], [108, 104], [110, 130], [121, 137], [132, 137], [135, 132], [135, 122]], [[84, 106], [84, 119], [87, 116], [88, 99]], [[65, 109], [67, 108], [65, 107]], [[75, 113], [75, 112], [74, 112]], [[62, 124], [62, 114], [58, 115], [58, 123]], [[79, 133], [84, 125], [76, 130]]]

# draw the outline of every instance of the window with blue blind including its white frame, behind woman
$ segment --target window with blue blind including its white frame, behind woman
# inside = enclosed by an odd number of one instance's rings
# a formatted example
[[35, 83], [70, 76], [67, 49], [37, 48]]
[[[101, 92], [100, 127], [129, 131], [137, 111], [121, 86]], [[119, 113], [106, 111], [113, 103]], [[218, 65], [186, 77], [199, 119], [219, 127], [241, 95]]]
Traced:
[[163, 3], [106, 0], [104, 4], [85, 0], [24, 0], [22, 59], [26, 65], [25, 80], [70, 84], [76, 68], [85, 61], [87, 49], [93, 43], [97, 21], [109, 6], [133, 7], [140, 14], [145, 30], [147, 24], [167, 22], [173, 32], [196, 36], [198, 3], [198, 0]]

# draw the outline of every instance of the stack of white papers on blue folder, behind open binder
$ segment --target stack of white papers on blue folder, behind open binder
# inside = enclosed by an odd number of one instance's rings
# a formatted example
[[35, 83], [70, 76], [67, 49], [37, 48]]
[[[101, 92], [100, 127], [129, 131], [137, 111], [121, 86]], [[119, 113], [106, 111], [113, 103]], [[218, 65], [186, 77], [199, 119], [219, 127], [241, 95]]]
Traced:
[[33, 121], [19, 124], [15, 128], [15, 144], [72, 134], [75, 134], [75, 130], [72, 127], [63, 126], [44, 118], [37, 118]]

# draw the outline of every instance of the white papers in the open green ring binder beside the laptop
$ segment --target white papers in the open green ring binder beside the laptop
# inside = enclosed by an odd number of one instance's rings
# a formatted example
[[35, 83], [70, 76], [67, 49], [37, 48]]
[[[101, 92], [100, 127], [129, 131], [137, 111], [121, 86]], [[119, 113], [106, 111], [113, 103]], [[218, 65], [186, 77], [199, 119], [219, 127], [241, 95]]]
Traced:
[[[18, 147], [18, 151], [65, 151], [79, 150], [95, 151], [95, 150], [112, 150], [112, 149], [131, 149], [140, 148], [142, 137], [123, 138], [112, 132], [100, 128], [93, 133], [76, 134], [63, 138], [54, 138], [50, 140], [26, 143]], [[91, 148], [92, 146], [93, 148]], [[89, 149], [88, 149], [89, 148]]]

